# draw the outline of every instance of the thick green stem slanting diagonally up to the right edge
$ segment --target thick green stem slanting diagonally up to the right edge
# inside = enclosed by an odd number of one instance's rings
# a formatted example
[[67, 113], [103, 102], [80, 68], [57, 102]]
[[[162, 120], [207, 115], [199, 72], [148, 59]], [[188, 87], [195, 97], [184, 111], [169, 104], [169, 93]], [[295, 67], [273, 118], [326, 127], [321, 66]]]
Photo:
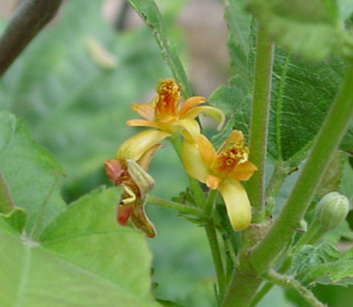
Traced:
[[[267, 272], [277, 255], [281, 253], [292, 238], [299, 221], [309, 207], [321, 176], [328, 167], [330, 158], [335, 154], [352, 118], [352, 83], [353, 66], [350, 66], [285, 207], [283, 207], [265, 238], [253, 248], [251, 254], [247, 257], [248, 267], [246, 270], [249, 272], [246, 273], [261, 276], [261, 274]], [[258, 283], [258, 286], [260, 284]], [[249, 302], [258, 290], [258, 286], [254, 286], [251, 280], [241, 280], [241, 274], [234, 274], [227, 291], [225, 306], [233, 306], [232, 303], [239, 303], [239, 301], [241, 301], [242, 306], [249, 306]], [[249, 291], [250, 287], [252, 291]]]

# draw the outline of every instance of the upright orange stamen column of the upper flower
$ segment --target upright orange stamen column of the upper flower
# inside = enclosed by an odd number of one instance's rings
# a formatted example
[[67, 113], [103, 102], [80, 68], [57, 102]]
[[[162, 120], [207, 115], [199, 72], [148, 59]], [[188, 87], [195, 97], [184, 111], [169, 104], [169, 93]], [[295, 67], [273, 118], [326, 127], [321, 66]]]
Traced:
[[173, 79], [161, 80], [157, 85], [156, 92], [158, 95], [155, 104], [155, 119], [176, 117], [181, 98], [181, 84], [175, 83]]

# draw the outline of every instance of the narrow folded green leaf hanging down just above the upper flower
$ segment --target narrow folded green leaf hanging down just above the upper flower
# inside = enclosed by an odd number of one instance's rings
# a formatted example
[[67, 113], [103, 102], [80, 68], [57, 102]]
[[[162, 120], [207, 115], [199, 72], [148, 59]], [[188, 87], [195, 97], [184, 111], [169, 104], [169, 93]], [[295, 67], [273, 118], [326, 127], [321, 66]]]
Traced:
[[153, 0], [128, 0], [128, 3], [136, 10], [138, 15], [145, 21], [146, 25], [152, 31], [155, 36], [162, 57], [169, 65], [169, 68], [174, 75], [174, 78], [183, 85], [184, 96], [187, 98], [192, 95], [191, 87], [187, 81], [184, 67], [177, 55], [175, 47], [172, 46], [165, 35], [164, 25], [162, 22], [162, 16], [157, 8], [155, 1]]

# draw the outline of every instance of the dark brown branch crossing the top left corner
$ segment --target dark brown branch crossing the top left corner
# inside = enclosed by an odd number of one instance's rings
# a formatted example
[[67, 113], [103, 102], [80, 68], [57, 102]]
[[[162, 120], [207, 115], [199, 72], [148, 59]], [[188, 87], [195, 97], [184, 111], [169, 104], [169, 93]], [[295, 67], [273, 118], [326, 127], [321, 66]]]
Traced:
[[62, 0], [25, 0], [0, 40], [0, 76], [30, 41], [55, 16]]

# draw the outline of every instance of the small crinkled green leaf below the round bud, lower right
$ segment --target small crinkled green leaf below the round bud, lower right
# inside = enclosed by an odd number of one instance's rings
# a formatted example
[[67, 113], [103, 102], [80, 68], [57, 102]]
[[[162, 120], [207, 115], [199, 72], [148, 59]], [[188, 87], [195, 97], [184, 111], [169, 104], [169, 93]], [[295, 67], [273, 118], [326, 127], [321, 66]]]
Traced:
[[341, 254], [334, 245], [304, 245], [293, 257], [290, 272], [304, 286], [313, 283], [353, 283], [352, 253]]

